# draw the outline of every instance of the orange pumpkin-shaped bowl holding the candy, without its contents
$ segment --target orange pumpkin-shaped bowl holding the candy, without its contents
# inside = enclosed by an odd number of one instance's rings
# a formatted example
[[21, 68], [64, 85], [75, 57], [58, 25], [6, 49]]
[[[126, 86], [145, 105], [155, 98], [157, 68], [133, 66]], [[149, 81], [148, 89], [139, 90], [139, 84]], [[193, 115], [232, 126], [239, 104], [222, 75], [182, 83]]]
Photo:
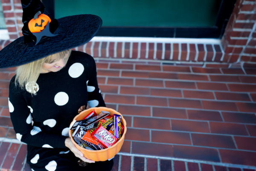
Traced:
[[73, 119], [73, 121], [74, 120], [76, 120], [76, 121], [82, 120], [87, 114], [89, 114], [91, 111], [93, 111], [93, 109], [95, 110], [95, 112], [97, 114], [101, 113], [101, 111], [108, 111], [108, 112], [110, 112], [111, 116], [113, 114], [117, 114], [117, 115], [121, 116], [121, 123], [124, 126], [125, 130], [124, 130], [124, 133], [119, 141], [117, 141], [113, 146], [111, 146], [107, 149], [87, 150], [87, 149], [82, 148], [75, 142], [74, 137], [72, 137], [72, 132], [71, 132], [72, 130], [69, 130], [68, 133], [69, 133], [69, 136], [71, 137], [71, 141], [75, 144], [76, 148], [79, 149], [84, 154], [84, 157], [86, 157], [87, 159], [90, 159], [90, 160], [94, 160], [96, 162], [106, 161], [108, 159], [113, 158], [120, 151], [122, 144], [124, 143], [124, 140], [125, 140], [125, 133], [127, 131], [126, 121], [125, 121], [124, 117], [119, 112], [116, 112], [116, 110], [107, 108], [107, 107], [92, 107], [90, 109], [86, 109], [83, 112], [81, 112], [79, 115], [76, 115], [76, 117]]

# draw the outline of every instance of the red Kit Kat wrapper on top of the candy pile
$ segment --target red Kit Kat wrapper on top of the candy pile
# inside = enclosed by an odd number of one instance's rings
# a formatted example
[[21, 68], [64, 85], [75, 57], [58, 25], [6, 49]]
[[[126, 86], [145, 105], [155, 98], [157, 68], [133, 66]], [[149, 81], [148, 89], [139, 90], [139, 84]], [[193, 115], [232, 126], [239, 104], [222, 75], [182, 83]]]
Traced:
[[113, 146], [118, 140], [101, 125], [95, 129], [91, 135], [97, 139], [105, 148]]

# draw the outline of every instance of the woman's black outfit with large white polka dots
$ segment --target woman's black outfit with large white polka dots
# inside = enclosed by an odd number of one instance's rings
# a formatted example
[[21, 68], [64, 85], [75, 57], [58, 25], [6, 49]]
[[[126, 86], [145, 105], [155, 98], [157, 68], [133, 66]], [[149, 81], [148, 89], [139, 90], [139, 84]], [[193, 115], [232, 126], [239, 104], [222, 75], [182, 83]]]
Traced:
[[[35, 171], [45, 171], [45, 166], [53, 160], [57, 162], [57, 168], [64, 167], [65, 163], [77, 163], [78, 159], [73, 159], [71, 151], [59, 154], [69, 150], [64, 143], [68, 127], [78, 109], [87, 102], [90, 107], [105, 107], [93, 57], [72, 51], [67, 65], [60, 71], [40, 74], [37, 95], [32, 96], [16, 87], [14, 80], [15, 76], [9, 87], [9, 109], [17, 139], [28, 145], [27, 163], [36, 168]], [[31, 162], [37, 154], [37, 163]], [[63, 156], [70, 163], [63, 162]], [[107, 163], [111, 165], [111, 162]]]

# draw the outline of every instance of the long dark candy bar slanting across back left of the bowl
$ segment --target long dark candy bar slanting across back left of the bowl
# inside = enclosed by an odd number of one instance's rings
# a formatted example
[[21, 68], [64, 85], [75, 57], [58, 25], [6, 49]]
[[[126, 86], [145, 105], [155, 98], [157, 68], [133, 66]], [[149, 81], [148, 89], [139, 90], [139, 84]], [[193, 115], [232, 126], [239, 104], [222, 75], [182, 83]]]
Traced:
[[71, 129], [76, 129], [78, 125], [84, 126], [84, 127], [90, 126], [91, 124], [100, 121], [102, 118], [105, 118], [109, 114], [110, 114], [109, 112], [102, 111], [102, 113], [100, 113], [97, 116], [94, 116], [93, 118], [90, 118], [87, 120], [76, 121], [76, 123], [73, 125], [73, 127]]

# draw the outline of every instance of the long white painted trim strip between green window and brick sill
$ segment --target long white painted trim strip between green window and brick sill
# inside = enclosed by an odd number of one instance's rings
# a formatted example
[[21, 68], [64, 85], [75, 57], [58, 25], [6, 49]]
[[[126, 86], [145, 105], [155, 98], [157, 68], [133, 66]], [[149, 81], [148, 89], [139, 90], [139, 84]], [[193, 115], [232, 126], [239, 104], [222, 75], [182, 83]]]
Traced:
[[95, 36], [91, 41], [95, 42], [157, 42], [157, 43], [207, 43], [207, 44], [221, 44], [221, 39], [195, 39], [195, 38], [160, 38], [160, 37], [108, 37]]

